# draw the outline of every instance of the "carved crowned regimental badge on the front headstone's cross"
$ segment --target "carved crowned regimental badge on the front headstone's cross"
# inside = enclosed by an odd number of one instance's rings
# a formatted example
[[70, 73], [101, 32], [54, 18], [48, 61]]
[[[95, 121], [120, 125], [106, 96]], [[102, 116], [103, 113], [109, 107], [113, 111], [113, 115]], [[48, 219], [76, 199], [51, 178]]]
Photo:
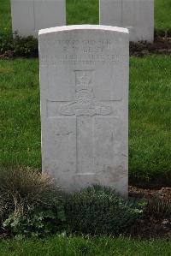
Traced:
[[76, 100], [61, 105], [60, 114], [62, 116], [105, 116], [111, 113], [111, 106], [98, 102], [94, 95], [92, 73], [93, 70], [75, 71]]

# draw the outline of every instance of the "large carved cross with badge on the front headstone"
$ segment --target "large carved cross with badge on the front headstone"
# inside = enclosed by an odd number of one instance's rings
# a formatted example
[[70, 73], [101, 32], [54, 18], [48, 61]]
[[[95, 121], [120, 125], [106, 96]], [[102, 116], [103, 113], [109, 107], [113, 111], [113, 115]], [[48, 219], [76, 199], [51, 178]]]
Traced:
[[[76, 116], [76, 171], [81, 175], [94, 173], [95, 118], [111, 116], [112, 114], [111, 100], [103, 103], [98, 101], [94, 95], [92, 72], [93, 70], [75, 71], [76, 99], [74, 102], [61, 102], [58, 109], [60, 116]], [[67, 133], [64, 132], [64, 134]], [[113, 131], [111, 131], [110, 136], [113, 140]]]

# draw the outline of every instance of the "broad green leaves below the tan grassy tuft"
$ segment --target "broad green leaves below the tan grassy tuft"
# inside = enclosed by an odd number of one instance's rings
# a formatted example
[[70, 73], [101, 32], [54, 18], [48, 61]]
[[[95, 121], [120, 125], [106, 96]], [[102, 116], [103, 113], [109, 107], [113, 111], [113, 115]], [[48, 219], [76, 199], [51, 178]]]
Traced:
[[3, 228], [8, 229], [15, 237], [45, 237], [62, 231], [65, 214], [62, 202], [51, 205], [51, 208], [36, 207], [26, 215], [10, 214], [3, 222]]

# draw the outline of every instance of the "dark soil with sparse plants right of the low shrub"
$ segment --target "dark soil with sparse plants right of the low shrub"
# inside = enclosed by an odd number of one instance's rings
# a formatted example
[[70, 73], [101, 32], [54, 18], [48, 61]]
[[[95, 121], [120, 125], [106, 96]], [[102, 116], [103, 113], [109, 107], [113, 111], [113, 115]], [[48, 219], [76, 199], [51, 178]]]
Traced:
[[134, 223], [129, 235], [171, 240], [171, 188], [143, 189], [129, 186], [129, 196], [148, 200], [144, 217]]

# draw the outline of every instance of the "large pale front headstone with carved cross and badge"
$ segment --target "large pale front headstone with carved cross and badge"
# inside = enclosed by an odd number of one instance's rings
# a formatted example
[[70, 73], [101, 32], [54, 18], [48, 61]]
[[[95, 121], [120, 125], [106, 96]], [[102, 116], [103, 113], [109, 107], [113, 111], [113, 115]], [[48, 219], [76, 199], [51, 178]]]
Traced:
[[127, 194], [128, 47], [125, 28], [39, 32], [42, 168], [67, 191]]

